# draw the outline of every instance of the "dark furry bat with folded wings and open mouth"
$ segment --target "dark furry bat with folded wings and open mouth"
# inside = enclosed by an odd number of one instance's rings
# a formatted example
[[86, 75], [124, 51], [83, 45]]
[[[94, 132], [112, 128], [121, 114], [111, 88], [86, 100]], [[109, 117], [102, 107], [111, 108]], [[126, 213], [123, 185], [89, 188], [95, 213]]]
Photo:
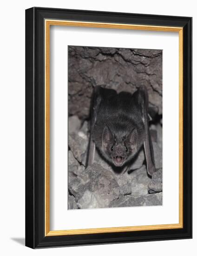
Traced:
[[95, 146], [107, 162], [121, 168], [129, 168], [131, 159], [144, 146], [148, 174], [156, 171], [148, 102], [145, 87], [138, 88], [134, 94], [94, 88], [86, 166], [93, 164]]

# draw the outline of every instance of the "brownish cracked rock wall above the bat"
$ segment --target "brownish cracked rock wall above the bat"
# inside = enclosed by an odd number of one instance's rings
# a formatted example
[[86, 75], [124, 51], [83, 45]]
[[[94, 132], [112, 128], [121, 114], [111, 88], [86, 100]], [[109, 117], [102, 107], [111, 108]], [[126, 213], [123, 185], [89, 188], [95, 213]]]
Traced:
[[69, 115], [89, 116], [97, 85], [133, 93], [142, 84], [150, 107], [162, 114], [162, 50], [68, 47]]

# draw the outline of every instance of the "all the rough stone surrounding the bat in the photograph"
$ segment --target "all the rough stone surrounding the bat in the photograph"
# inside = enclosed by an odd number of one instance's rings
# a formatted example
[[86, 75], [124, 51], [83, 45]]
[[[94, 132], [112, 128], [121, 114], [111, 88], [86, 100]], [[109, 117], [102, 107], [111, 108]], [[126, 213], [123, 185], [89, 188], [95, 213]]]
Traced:
[[[112, 168], [96, 150], [85, 169], [93, 87], [149, 94], [155, 166], [147, 174], [144, 149], [127, 171]], [[107, 47], [68, 48], [68, 209], [162, 205], [162, 51]]]

